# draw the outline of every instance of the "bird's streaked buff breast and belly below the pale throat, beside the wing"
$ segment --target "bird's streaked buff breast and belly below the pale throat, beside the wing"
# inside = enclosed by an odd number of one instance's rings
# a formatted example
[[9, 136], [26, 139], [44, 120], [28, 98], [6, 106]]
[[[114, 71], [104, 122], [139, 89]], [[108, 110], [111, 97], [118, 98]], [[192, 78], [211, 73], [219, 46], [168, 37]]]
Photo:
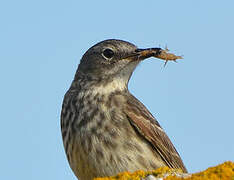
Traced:
[[70, 124], [73, 135], [67, 154], [79, 179], [158, 166], [151, 147], [138, 136], [123, 111], [125, 98], [121, 91], [99, 95], [82, 92], [72, 100], [77, 119]]

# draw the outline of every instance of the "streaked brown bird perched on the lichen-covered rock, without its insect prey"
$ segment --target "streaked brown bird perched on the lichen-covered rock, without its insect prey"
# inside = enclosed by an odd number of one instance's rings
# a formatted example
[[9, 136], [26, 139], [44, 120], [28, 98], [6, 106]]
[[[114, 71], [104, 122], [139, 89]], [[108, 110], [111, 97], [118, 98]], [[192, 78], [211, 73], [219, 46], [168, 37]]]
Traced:
[[61, 110], [64, 149], [79, 180], [163, 166], [187, 172], [159, 122], [128, 90], [137, 65], [160, 50], [107, 39], [82, 56]]

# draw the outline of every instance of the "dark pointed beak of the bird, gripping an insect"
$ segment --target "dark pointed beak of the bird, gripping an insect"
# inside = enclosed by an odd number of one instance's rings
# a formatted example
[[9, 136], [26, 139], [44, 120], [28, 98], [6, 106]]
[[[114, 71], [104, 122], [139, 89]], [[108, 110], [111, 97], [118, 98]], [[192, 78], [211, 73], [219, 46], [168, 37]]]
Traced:
[[161, 53], [161, 51], [161, 48], [136, 49], [135, 52], [124, 59], [129, 59], [131, 61], [140, 61], [152, 56], [156, 57]]

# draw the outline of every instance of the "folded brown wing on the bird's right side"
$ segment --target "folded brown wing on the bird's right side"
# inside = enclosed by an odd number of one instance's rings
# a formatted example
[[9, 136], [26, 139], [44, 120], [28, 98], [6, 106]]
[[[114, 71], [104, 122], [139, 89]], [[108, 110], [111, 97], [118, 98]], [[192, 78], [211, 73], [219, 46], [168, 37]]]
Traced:
[[134, 96], [127, 99], [124, 110], [134, 129], [152, 145], [168, 167], [187, 172], [180, 155], [153, 115]]

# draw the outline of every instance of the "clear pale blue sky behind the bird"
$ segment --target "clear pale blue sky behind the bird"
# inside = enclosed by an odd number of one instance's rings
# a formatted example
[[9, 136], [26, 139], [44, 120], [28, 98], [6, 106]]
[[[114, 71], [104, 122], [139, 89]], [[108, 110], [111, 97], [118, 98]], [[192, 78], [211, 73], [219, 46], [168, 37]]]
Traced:
[[234, 160], [234, 1], [1, 1], [0, 179], [75, 180], [60, 111], [79, 60], [101, 40], [165, 47], [130, 91], [157, 118], [189, 172]]

